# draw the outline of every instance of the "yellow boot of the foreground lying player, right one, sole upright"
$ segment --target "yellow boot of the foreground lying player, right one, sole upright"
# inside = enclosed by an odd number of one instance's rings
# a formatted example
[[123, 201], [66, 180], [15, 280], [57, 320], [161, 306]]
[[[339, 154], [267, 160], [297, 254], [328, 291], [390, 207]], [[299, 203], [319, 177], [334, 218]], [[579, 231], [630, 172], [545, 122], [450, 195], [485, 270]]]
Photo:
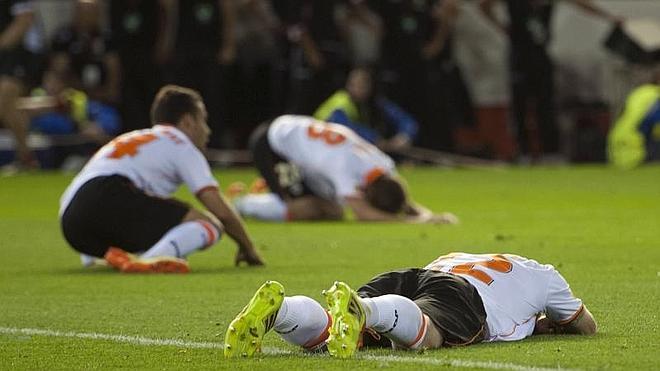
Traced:
[[351, 357], [362, 345], [362, 330], [366, 320], [360, 298], [347, 284], [339, 281], [323, 291], [323, 295], [332, 317], [327, 340], [328, 351], [334, 357]]

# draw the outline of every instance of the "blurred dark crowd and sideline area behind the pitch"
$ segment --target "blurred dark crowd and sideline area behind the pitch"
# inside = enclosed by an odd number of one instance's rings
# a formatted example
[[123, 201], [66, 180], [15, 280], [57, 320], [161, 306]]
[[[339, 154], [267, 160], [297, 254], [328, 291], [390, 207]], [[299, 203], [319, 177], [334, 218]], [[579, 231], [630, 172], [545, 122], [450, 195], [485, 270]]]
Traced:
[[629, 90], [657, 73], [603, 47], [640, 17], [660, 2], [0, 0], [0, 127], [34, 166], [30, 131], [103, 143], [148, 127], [173, 83], [202, 93], [213, 148], [297, 113], [386, 149], [603, 160]]

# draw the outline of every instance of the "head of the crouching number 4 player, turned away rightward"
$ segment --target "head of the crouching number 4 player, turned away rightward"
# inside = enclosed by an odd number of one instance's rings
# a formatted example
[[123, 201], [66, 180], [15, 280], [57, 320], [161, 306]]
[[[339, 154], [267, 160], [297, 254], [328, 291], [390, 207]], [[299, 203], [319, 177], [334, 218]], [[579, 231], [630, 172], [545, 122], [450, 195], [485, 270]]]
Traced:
[[151, 105], [151, 124], [174, 125], [200, 149], [206, 147], [211, 129], [201, 95], [177, 85], [162, 87]]

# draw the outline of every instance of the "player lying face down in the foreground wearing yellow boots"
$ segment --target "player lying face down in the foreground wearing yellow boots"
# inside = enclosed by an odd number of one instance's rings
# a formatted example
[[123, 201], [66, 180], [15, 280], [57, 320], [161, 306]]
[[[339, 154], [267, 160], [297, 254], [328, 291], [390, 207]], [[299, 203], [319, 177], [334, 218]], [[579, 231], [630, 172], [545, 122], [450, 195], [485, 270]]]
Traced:
[[423, 269], [380, 274], [357, 291], [335, 282], [323, 295], [327, 310], [266, 282], [229, 325], [225, 356], [254, 355], [270, 330], [341, 358], [362, 346], [419, 350], [596, 333], [593, 316], [552, 265], [510, 254], [452, 253]]

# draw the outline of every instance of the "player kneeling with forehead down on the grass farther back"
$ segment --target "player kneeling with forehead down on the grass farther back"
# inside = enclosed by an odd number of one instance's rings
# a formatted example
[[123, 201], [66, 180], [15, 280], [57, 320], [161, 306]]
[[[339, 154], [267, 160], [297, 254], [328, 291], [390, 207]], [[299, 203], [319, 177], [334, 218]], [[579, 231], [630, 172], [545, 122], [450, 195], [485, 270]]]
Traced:
[[345, 126], [280, 116], [255, 130], [250, 148], [270, 192], [235, 197], [243, 216], [339, 220], [346, 205], [362, 221], [458, 222], [413, 202], [394, 161]]

